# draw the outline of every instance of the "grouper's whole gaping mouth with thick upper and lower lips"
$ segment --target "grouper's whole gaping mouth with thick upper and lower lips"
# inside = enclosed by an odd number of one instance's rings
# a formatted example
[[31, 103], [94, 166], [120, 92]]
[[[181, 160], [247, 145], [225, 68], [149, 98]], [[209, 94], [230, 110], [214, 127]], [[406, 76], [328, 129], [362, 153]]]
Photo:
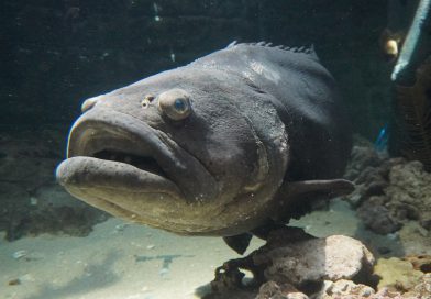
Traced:
[[76, 121], [56, 177], [96, 208], [169, 231], [184, 230], [178, 221], [190, 221], [187, 210], [197, 196], [217, 192], [214, 178], [166, 133], [108, 109]]

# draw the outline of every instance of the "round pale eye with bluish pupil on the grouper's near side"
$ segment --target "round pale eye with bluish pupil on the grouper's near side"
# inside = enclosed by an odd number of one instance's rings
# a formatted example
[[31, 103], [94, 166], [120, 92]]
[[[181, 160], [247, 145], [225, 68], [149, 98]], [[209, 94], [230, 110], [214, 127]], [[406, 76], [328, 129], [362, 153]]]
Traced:
[[190, 98], [183, 89], [172, 89], [158, 97], [158, 110], [172, 120], [180, 121], [191, 113]]

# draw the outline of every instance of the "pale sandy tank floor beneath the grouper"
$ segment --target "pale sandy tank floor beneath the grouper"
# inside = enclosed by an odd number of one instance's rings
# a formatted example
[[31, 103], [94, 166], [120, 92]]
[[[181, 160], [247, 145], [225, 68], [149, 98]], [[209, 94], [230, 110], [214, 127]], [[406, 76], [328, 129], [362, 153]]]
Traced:
[[[318, 236], [346, 234], [394, 247], [394, 252], [400, 246], [399, 236], [364, 233], [354, 212], [340, 201], [329, 211], [294, 223]], [[253, 239], [247, 252], [262, 244]], [[2, 241], [0, 298], [200, 298], [214, 269], [236, 257], [219, 237], [177, 236], [110, 219], [87, 237], [40, 235]]]

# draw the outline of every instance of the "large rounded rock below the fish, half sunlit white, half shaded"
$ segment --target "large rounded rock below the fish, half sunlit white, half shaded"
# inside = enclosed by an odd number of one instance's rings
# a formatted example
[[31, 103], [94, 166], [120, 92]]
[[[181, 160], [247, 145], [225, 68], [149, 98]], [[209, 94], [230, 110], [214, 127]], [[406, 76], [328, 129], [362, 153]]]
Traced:
[[267, 259], [266, 279], [290, 281], [296, 287], [323, 280], [363, 280], [374, 264], [372, 253], [360, 241], [343, 235], [292, 243], [254, 256], [256, 265]]

